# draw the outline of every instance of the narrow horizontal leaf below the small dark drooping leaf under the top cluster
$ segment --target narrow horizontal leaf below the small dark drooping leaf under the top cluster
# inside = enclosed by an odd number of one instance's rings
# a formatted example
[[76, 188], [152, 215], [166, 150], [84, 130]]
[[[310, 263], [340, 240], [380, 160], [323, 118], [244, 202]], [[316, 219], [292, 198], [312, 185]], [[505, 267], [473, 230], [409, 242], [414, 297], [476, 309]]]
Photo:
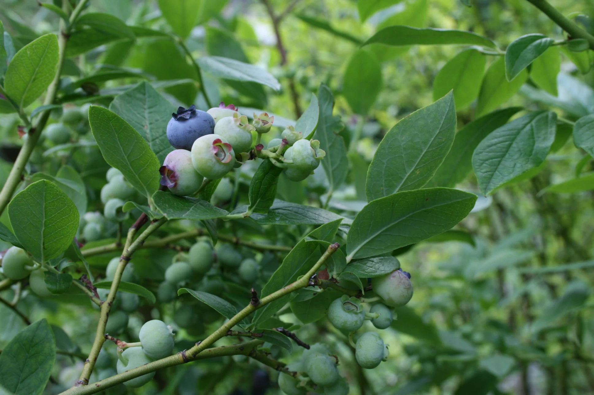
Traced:
[[323, 208], [275, 199], [266, 215], [252, 214], [250, 218], [260, 225], [319, 225], [343, 217]]

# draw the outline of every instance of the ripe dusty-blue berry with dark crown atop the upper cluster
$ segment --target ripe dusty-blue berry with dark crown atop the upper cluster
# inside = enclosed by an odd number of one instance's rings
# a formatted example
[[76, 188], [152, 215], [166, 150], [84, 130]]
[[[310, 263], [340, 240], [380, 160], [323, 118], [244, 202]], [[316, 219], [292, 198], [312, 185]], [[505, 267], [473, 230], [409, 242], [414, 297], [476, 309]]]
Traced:
[[191, 105], [188, 109], [178, 108], [177, 113], [167, 124], [167, 138], [169, 144], [178, 150], [191, 150], [192, 144], [198, 138], [207, 134], [213, 134], [214, 119], [206, 111], [197, 110]]

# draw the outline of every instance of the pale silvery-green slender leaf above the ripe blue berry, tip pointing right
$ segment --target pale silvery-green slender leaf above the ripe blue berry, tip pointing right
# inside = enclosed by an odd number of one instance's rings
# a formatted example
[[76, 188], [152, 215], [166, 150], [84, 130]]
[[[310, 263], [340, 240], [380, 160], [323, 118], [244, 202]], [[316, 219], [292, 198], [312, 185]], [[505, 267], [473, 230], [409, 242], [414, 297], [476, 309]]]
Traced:
[[279, 81], [261, 67], [222, 56], [201, 56], [197, 62], [204, 71], [210, 72], [215, 77], [226, 80], [251, 81], [269, 86], [274, 90], [280, 90]]

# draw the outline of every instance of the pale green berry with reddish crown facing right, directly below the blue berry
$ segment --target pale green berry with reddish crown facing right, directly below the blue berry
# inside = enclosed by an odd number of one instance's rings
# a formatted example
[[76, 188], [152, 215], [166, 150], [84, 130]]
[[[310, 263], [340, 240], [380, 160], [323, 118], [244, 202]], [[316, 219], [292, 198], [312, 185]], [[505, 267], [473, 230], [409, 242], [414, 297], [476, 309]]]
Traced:
[[219, 179], [235, 165], [235, 151], [218, 134], [207, 134], [192, 145], [192, 165], [204, 178]]

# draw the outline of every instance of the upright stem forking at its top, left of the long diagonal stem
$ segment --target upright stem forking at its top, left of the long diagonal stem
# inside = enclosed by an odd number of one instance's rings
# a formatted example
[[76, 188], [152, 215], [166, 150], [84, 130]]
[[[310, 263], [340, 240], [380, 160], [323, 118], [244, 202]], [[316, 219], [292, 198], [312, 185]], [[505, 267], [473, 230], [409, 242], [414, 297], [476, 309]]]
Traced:
[[87, 385], [89, 384], [89, 377], [93, 372], [93, 368], [95, 366], [95, 362], [97, 361], [97, 356], [99, 356], [99, 352], [103, 343], [105, 343], [105, 327], [108, 323], [109, 311], [115, 300], [116, 292], [118, 292], [119, 282], [122, 279], [122, 274], [124, 273], [124, 269], [128, 264], [132, 254], [134, 251], [138, 249], [141, 245], [143, 245], [144, 241], [157, 230], [161, 225], [163, 225], [167, 219], [162, 218], [156, 222], [151, 223], [143, 233], [141, 233], [138, 238], [132, 242], [134, 235], [136, 234], [138, 228], [142, 226], [142, 223], [139, 225], [139, 221], [134, 223], [132, 227], [128, 230], [128, 237], [126, 239], [126, 244], [124, 246], [124, 251], [122, 252], [122, 256], [119, 258], [119, 264], [116, 268], [115, 274], [113, 275], [113, 282], [109, 289], [108, 297], [105, 301], [101, 304], [101, 315], [99, 317], [99, 323], [97, 324], [97, 331], [95, 333], [95, 340], [93, 342], [93, 346], [91, 347], [91, 352], [89, 353], [89, 358], [84, 362], [83, 372], [80, 375], [76, 385]]

